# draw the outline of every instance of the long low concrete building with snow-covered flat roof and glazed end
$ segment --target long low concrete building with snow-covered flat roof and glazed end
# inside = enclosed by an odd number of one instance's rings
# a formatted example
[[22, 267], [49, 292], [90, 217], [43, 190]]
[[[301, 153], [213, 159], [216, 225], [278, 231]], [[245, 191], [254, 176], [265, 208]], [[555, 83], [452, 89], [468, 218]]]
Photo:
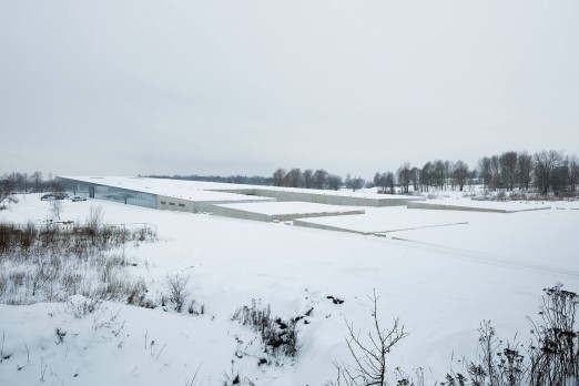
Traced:
[[[150, 177], [59, 176], [58, 182], [74, 195], [108, 200], [150, 209], [179, 212], [212, 212], [217, 215], [258, 221], [288, 221], [312, 216], [360, 214], [343, 206], [406, 205], [420, 200], [347, 191], [316, 191]], [[267, 213], [267, 206], [236, 206], [245, 203], [295, 202], [308, 207], [286, 213]], [[235, 205], [233, 205], [235, 204]], [[314, 207], [315, 205], [318, 205]], [[322, 207], [319, 205], [326, 205]], [[333, 207], [332, 207], [332, 206]], [[283, 205], [277, 205], [282, 209]], [[286, 206], [287, 207], [287, 206]]]

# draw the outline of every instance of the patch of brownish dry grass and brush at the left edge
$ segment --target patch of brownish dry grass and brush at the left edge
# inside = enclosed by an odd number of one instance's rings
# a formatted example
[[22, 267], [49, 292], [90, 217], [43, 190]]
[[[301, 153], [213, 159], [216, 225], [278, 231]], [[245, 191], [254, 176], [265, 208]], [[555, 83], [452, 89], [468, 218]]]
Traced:
[[115, 250], [142, 234], [151, 241], [156, 234], [150, 227], [144, 233], [104, 225], [95, 228], [96, 233], [94, 226], [61, 230], [50, 223], [0, 224], [0, 302], [62, 302], [75, 294], [125, 301], [134, 281], [125, 274], [124, 254]]

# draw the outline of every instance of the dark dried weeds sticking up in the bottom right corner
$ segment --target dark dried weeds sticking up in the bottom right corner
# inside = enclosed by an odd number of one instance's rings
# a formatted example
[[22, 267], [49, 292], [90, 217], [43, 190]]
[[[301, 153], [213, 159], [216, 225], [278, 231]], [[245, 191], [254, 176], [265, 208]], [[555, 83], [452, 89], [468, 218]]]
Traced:
[[540, 321], [531, 324], [527, 345], [499, 338], [490, 322], [479, 328], [479, 357], [463, 359], [464, 374], [450, 372], [440, 385], [571, 386], [579, 383], [579, 333], [575, 318], [579, 296], [561, 284], [544, 290]]

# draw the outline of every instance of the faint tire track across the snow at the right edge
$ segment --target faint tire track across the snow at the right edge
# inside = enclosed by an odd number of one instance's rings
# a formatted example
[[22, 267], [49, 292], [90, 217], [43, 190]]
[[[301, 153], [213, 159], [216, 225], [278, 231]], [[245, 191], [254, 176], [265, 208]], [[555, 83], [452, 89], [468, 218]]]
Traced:
[[[496, 264], [501, 266], [509, 266], [509, 267], [517, 267], [517, 268], [526, 268], [531, 271], [537, 271], [541, 273], [550, 273], [550, 274], [559, 274], [559, 275], [566, 275], [571, 276], [575, 278], [579, 278], [579, 272], [578, 271], [571, 271], [568, 268], [557, 267], [552, 265], [545, 265], [545, 264], [537, 264], [537, 263], [529, 263], [522, 260], [512, 258], [512, 257], [505, 257], [505, 256], [498, 256], [492, 255], [490, 253], [484, 253], [484, 252], [476, 252], [470, 250], [463, 250], [440, 244], [434, 244], [434, 243], [427, 243], [427, 242], [420, 242], [409, 238], [402, 238], [402, 237], [392, 237], [393, 241], [403, 242], [405, 243], [404, 246], [406, 247], [413, 247], [421, 251], [428, 251], [434, 253], [439, 253], [444, 255], [449, 256], [456, 256], [464, 260], [470, 260], [475, 262], [481, 262], [487, 264]], [[403, 244], [400, 243], [400, 244]]]

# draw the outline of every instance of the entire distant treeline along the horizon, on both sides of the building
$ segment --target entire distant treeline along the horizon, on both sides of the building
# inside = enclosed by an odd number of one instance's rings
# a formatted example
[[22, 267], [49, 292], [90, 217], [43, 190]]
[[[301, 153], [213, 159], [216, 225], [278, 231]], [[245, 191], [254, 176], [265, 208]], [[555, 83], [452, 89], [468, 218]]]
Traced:
[[[430, 189], [463, 191], [466, 185], [482, 185], [488, 191], [514, 191], [541, 195], [577, 196], [579, 159], [562, 151], [508, 151], [481, 158], [477, 165], [466, 162], [434, 160], [421, 167], [404, 162], [395, 172], [376, 172], [372, 181], [347, 174], [345, 179], [324, 169], [277, 169], [271, 177], [253, 175], [146, 175], [153, 179], [221, 182], [248, 185], [273, 185], [302, 189], [338, 190], [378, 187], [380, 193], [428, 192]], [[9, 173], [0, 176], [0, 206], [16, 192], [59, 191], [52, 176], [44, 180], [41, 172]]]

